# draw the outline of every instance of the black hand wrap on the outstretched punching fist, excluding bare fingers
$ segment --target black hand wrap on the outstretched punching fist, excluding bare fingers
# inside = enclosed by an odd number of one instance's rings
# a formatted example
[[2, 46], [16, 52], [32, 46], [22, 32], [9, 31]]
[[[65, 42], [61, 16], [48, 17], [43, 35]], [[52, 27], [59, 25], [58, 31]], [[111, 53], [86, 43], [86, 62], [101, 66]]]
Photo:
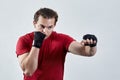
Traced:
[[93, 43], [93, 44], [86, 43], [85, 46], [95, 47], [97, 45], [97, 38], [96, 38], [95, 35], [86, 34], [86, 35], [83, 36], [83, 39], [84, 40], [87, 40], [87, 39], [91, 40], [92, 39], [93, 41], [96, 41], [96, 43]]

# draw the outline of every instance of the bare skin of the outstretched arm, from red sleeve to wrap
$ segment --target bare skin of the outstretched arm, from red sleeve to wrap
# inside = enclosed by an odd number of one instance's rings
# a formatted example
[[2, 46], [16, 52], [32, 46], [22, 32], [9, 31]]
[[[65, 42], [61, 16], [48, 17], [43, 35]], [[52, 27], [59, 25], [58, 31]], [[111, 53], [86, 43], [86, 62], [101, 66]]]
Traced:
[[83, 41], [81, 42], [73, 41], [69, 46], [69, 51], [77, 55], [93, 56], [95, 55], [97, 48], [90, 47], [90, 46], [84, 46]]

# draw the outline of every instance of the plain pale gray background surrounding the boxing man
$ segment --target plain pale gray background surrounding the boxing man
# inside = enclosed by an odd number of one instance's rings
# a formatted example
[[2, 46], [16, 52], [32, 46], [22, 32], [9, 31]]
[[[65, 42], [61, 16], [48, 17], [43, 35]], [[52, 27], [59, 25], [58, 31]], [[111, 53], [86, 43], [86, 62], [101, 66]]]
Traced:
[[16, 42], [34, 30], [33, 15], [41, 7], [58, 12], [56, 31], [78, 41], [86, 33], [98, 37], [94, 57], [68, 53], [64, 80], [120, 80], [119, 0], [0, 0], [0, 80], [22, 80]]

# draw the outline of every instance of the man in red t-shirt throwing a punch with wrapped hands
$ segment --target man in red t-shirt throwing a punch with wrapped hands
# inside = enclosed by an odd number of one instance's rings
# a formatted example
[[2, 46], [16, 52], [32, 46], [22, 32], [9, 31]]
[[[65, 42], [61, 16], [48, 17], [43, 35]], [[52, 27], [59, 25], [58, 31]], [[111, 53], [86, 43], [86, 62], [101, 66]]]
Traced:
[[58, 14], [54, 10], [41, 8], [34, 15], [35, 31], [19, 38], [16, 54], [24, 80], [63, 80], [67, 52], [82, 56], [96, 53], [97, 38], [94, 35], [86, 34], [81, 42], [77, 42], [54, 31], [57, 20]]

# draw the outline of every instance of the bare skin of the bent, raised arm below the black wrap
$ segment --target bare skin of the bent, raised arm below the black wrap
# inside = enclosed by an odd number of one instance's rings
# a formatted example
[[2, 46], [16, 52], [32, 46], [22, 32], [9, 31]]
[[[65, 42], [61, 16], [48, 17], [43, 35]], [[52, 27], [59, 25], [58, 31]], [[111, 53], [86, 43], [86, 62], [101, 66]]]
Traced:
[[18, 56], [19, 64], [23, 73], [31, 76], [38, 67], [39, 48], [32, 47], [29, 53]]

